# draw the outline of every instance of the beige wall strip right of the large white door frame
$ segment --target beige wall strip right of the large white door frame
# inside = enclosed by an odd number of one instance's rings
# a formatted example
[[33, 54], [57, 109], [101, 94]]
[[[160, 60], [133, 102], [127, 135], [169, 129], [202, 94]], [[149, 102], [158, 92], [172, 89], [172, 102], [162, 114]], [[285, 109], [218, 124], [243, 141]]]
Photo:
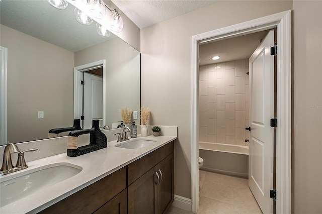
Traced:
[[322, 1], [292, 14], [292, 211], [322, 213]]

